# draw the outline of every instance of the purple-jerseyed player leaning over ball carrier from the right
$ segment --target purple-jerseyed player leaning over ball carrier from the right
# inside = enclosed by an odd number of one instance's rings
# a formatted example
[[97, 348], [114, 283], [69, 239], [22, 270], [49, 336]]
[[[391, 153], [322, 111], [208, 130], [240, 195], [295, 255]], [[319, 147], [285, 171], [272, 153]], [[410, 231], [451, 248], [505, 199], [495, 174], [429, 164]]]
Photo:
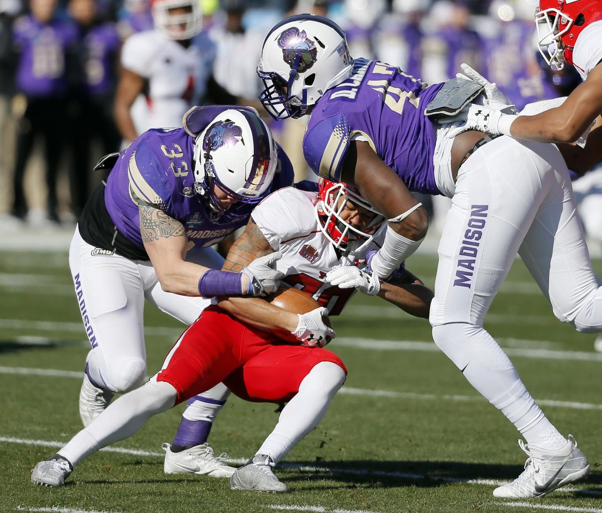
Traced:
[[473, 94], [505, 107], [494, 85], [468, 93], [468, 80], [429, 86], [386, 63], [353, 60], [344, 32], [323, 17], [278, 23], [265, 38], [258, 74], [270, 115], [309, 115], [303, 152], [312, 170], [356, 185], [388, 219], [373, 276], [388, 277], [426, 232], [409, 191], [452, 198], [430, 307], [433, 340], [528, 444], [520, 442], [529, 456], [524, 472], [494, 496], [537, 497], [585, 478], [589, 463], [574, 439], [545, 417], [483, 328], [518, 253], [560, 321], [602, 330], [602, 288], [559, 150], [474, 130], [448, 137], [458, 123], [425, 111], [460, 110]]

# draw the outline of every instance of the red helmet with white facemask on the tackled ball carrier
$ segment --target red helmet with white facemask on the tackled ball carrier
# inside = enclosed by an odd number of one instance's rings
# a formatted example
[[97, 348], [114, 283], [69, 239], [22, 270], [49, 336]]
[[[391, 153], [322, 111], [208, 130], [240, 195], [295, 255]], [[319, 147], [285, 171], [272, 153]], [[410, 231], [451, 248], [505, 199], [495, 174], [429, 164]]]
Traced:
[[[347, 201], [374, 213], [373, 219], [362, 230], [341, 218]], [[372, 241], [385, 218], [376, 212], [355, 187], [345, 183], [320, 179], [315, 204], [318, 226], [335, 248], [344, 252], [359, 251]]]

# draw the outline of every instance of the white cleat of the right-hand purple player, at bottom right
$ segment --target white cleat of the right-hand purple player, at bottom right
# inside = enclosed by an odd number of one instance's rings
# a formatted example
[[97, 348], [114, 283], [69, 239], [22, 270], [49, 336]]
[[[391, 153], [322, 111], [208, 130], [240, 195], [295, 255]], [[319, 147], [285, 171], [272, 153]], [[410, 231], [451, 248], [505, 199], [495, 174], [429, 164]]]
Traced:
[[529, 456], [525, 470], [511, 483], [495, 488], [494, 497], [542, 497], [556, 488], [585, 479], [589, 474], [588, 460], [577, 449], [573, 435], [568, 438], [566, 445], [555, 451], [527, 448], [523, 440], [519, 440], [518, 445]]

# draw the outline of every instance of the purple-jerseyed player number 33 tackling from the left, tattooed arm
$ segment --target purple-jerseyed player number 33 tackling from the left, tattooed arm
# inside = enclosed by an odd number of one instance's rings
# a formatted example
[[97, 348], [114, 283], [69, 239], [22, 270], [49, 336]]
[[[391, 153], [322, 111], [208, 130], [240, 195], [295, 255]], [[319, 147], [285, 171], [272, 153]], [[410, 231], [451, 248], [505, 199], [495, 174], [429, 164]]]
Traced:
[[[207, 298], [262, 293], [278, 276], [269, 262], [243, 274], [209, 269], [223, 263], [211, 245], [244, 226], [261, 198], [291, 185], [287, 156], [252, 109], [197, 107], [184, 124], [144, 132], [101, 161], [113, 168], [106, 188], [93, 193], [71, 242], [69, 266], [92, 345], [79, 396], [84, 426], [115, 392], [144, 381], [144, 298], [189, 325]], [[212, 398], [224, 393], [221, 387]], [[210, 447], [206, 456], [223, 465]]]

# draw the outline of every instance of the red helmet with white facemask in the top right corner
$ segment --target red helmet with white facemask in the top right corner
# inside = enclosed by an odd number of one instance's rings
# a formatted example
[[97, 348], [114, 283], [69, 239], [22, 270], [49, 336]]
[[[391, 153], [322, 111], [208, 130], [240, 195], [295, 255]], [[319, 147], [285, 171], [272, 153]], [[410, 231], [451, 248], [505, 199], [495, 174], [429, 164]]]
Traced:
[[539, 0], [535, 12], [539, 53], [552, 69], [573, 64], [581, 31], [602, 19], [602, 0]]

